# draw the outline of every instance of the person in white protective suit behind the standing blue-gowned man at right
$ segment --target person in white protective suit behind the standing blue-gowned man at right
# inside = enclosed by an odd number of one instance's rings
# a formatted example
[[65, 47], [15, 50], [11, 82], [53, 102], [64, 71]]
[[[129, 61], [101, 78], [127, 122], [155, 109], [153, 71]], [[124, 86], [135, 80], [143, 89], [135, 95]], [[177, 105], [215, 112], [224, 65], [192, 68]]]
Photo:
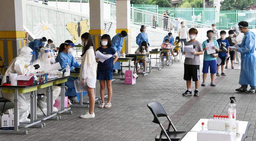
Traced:
[[[231, 38], [232, 43], [240, 45], [242, 43], [243, 37], [244, 37], [244, 33], [241, 33], [239, 31], [239, 26], [238, 24], [236, 26], [234, 26], [234, 37]], [[238, 63], [238, 67], [236, 67], [235, 69], [240, 69], [241, 68], [241, 54], [240, 52], [236, 51], [235, 52], [236, 55], [236, 61]]]

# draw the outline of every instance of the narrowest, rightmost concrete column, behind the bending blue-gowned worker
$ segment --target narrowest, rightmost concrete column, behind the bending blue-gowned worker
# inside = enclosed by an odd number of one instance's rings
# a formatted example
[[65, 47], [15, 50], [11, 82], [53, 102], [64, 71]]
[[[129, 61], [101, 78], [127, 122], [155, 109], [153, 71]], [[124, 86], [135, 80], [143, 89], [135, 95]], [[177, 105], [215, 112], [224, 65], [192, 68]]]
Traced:
[[125, 53], [131, 53], [130, 11], [130, 0], [116, 0], [116, 33], [122, 30], [128, 33], [122, 48], [122, 52]]

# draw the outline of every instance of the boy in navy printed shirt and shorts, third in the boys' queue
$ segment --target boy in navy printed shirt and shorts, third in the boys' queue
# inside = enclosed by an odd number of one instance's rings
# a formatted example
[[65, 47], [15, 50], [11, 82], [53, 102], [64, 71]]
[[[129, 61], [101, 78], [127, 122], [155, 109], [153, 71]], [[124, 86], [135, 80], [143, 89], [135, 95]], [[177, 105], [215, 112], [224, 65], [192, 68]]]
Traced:
[[[220, 47], [220, 52], [218, 53], [218, 57], [221, 59], [221, 74], [219, 74], [219, 68], [220, 65], [217, 64], [217, 73], [216, 76], [226, 76], [226, 74], [224, 73], [224, 65], [226, 62], [226, 58], [229, 57], [229, 43], [228, 40], [226, 39], [226, 31], [222, 30], [220, 31], [220, 39], [217, 40], [219, 47]], [[226, 49], [225, 49], [226, 48]]]

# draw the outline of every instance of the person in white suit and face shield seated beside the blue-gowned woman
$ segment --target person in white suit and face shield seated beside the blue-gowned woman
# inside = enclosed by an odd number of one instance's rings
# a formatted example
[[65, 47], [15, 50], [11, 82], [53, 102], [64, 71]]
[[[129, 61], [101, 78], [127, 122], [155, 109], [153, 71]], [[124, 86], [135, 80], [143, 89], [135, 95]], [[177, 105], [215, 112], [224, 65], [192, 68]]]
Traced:
[[[46, 47], [42, 47], [40, 49], [40, 53], [41, 55], [38, 57], [38, 59], [36, 59], [32, 65], [36, 65], [38, 64], [40, 66], [39, 70], [40, 71], [44, 71], [46, 73], [49, 73], [47, 70], [47, 68], [54, 63], [53, 61], [55, 61], [54, 57], [52, 56], [50, 49], [46, 48]], [[38, 101], [38, 103], [40, 104], [40, 106], [42, 107], [42, 110], [44, 111], [44, 113], [47, 112], [47, 96], [46, 96], [46, 90], [47, 88], [42, 88], [42, 89], [38, 89], [36, 91], [37, 94], [44, 94], [44, 97]], [[60, 94], [60, 90], [61, 88], [58, 86], [53, 86], [53, 104], [55, 102], [55, 100], [58, 98], [59, 94]], [[37, 108], [37, 114], [39, 116], [43, 116], [43, 112], [42, 110], [38, 107]], [[58, 109], [53, 107], [53, 112], [58, 112]]]

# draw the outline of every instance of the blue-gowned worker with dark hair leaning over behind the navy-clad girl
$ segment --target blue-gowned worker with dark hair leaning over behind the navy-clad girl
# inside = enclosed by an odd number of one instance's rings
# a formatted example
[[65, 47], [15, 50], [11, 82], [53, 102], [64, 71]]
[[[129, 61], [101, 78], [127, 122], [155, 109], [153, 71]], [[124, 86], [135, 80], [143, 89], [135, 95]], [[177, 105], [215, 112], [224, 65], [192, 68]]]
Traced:
[[[120, 53], [122, 51], [123, 43], [124, 43], [124, 37], [127, 36], [126, 31], [121, 31], [121, 33], [117, 33], [113, 38], [112, 38], [112, 48], [115, 49], [115, 51], [118, 53], [118, 58], [120, 58]], [[116, 73], [116, 70], [118, 72]], [[121, 65], [120, 62], [116, 62], [114, 64], [114, 69], [113, 69], [113, 75], [119, 75], [121, 72]]]

